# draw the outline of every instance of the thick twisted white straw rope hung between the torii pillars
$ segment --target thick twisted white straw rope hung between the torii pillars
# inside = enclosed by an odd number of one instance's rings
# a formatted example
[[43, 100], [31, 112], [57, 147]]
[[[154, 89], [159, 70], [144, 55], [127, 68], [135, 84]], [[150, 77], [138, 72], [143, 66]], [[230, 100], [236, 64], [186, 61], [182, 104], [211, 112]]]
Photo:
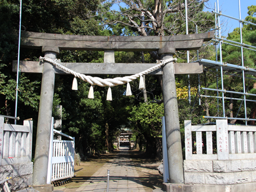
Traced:
[[87, 81], [88, 83], [91, 84], [91, 86], [97, 85], [101, 87], [106, 87], [106, 86], [113, 87], [113, 86], [119, 86], [122, 84], [129, 83], [130, 81], [133, 81], [140, 76], [154, 72], [155, 70], [159, 69], [161, 66], [165, 65], [166, 63], [177, 61], [177, 58], [161, 60], [161, 63], [159, 63], [158, 65], [155, 65], [154, 67], [151, 67], [150, 69], [144, 70], [143, 72], [133, 74], [131, 76], [116, 77], [114, 79], [101, 79], [99, 77], [86, 76], [85, 74], [74, 72], [73, 70], [70, 70], [63, 65], [60, 65], [59, 63], [56, 62], [56, 60], [57, 59], [54, 60], [54, 59], [49, 59], [42, 56], [40, 56], [39, 58], [39, 61], [47, 61], [49, 63], [52, 63], [53, 65], [58, 66], [59, 68], [65, 70], [66, 72], [73, 74], [75, 77], [79, 77], [81, 80]]

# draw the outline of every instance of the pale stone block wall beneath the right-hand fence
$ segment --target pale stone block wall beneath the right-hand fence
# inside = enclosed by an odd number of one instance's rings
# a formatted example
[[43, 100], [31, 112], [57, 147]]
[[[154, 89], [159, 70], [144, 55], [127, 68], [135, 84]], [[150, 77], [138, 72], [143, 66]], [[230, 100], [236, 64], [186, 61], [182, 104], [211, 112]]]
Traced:
[[251, 182], [256, 182], [256, 159], [184, 161], [184, 184], [228, 185]]

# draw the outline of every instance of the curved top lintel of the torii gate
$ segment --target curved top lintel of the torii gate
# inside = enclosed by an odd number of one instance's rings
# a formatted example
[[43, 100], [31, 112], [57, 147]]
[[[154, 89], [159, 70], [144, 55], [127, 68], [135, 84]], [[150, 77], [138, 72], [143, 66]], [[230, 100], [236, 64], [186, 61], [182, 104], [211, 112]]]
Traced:
[[[15, 32], [16, 35], [17, 31]], [[41, 49], [44, 46], [62, 50], [83, 51], [158, 51], [164, 47], [179, 50], [196, 50], [202, 42], [210, 41], [214, 31], [189, 35], [169, 36], [88, 36], [65, 35], [22, 31], [21, 46]]]

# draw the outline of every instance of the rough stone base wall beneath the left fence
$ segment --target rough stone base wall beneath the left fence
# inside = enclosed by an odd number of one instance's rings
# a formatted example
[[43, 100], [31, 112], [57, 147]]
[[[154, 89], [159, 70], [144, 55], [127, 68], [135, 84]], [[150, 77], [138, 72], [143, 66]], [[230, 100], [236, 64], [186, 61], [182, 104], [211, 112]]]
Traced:
[[14, 165], [0, 166], [0, 180], [12, 177], [8, 182], [13, 191], [22, 190], [32, 185], [33, 182], [33, 162], [17, 163]]

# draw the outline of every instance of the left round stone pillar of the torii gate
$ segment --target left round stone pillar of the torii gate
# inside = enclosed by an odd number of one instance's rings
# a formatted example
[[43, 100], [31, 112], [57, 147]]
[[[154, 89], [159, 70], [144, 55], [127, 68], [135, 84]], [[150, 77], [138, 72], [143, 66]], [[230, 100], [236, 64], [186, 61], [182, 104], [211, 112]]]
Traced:
[[[56, 59], [58, 47], [42, 47], [44, 56]], [[39, 191], [52, 191], [51, 184], [47, 185], [47, 168], [49, 143], [51, 134], [52, 104], [54, 99], [55, 66], [44, 62], [42, 72], [41, 96], [37, 124], [37, 140], [35, 144], [35, 161], [33, 171], [33, 187]]]

